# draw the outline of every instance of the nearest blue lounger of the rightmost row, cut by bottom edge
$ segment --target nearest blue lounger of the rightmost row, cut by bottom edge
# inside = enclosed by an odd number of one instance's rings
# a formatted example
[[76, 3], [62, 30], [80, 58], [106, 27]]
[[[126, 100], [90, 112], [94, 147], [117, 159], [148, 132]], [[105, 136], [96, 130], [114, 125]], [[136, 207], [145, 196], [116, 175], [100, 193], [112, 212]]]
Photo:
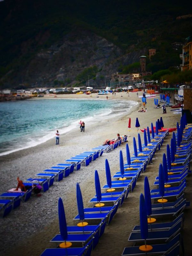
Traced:
[[[151, 255], [169, 255], [179, 256], [179, 245], [180, 245], [180, 234], [175, 236], [171, 241], [166, 244], [153, 244], [153, 249], [149, 252]], [[175, 249], [177, 251], [175, 251]], [[122, 253], [123, 256], [136, 256], [136, 255], [146, 255], [146, 252], [141, 252], [139, 246], [125, 247]]]

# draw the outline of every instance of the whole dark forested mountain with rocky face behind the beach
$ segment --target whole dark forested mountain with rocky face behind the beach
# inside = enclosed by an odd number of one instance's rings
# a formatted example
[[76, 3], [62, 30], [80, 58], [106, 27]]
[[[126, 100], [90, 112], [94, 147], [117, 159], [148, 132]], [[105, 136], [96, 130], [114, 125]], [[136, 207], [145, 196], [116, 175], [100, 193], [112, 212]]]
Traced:
[[98, 84], [149, 48], [157, 53], [148, 70], [178, 66], [181, 49], [172, 43], [192, 35], [192, 19], [176, 18], [191, 7], [178, 0], [4, 0], [0, 85], [72, 84], [93, 66]]

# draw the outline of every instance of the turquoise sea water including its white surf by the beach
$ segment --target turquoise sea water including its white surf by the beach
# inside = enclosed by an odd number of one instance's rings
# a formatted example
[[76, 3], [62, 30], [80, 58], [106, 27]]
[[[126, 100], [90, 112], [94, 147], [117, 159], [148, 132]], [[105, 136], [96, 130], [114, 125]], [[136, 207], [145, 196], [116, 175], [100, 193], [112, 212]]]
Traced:
[[36, 146], [59, 133], [128, 111], [135, 102], [117, 100], [18, 100], [0, 102], [0, 156]]

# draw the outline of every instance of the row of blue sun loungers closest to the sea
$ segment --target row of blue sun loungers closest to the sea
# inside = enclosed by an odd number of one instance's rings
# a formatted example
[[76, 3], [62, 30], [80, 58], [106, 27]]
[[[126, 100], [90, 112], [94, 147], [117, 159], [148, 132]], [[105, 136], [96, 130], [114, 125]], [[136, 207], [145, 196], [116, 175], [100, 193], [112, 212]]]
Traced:
[[112, 145], [98, 146], [96, 148], [92, 148], [90, 151], [85, 151], [79, 155], [66, 159], [63, 163], [52, 166], [43, 172], [37, 173], [34, 177], [30, 177], [23, 182], [25, 186], [30, 187], [26, 192], [22, 192], [20, 190], [14, 191], [11, 189], [2, 193], [0, 195], [0, 216], [5, 217], [12, 209], [20, 206], [20, 202], [26, 202], [32, 194], [34, 185], [40, 184], [43, 192], [45, 192], [53, 185], [54, 181], [62, 180], [74, 170], [79, 170], [82, 165], [89, 165], [99, 156], [102, 156], [104, 151], [108, 152], [111, 149], [115, 149], [117, 146], [120, 146], [122, 142], [125, 142], [126, 139], [127, 137], [122, 141], [117, 141], [115, 145], [113, 144], [113, 148], [111, 147]]

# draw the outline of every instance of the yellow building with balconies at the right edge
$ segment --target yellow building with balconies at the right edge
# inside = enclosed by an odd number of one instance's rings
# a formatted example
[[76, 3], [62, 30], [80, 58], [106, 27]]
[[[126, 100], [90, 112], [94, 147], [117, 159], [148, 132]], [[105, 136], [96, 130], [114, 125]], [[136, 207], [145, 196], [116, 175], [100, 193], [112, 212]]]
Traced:
[[187, 38], [187, 43], [182, 48], [181, 71], [192, 70], [192, 36]]

